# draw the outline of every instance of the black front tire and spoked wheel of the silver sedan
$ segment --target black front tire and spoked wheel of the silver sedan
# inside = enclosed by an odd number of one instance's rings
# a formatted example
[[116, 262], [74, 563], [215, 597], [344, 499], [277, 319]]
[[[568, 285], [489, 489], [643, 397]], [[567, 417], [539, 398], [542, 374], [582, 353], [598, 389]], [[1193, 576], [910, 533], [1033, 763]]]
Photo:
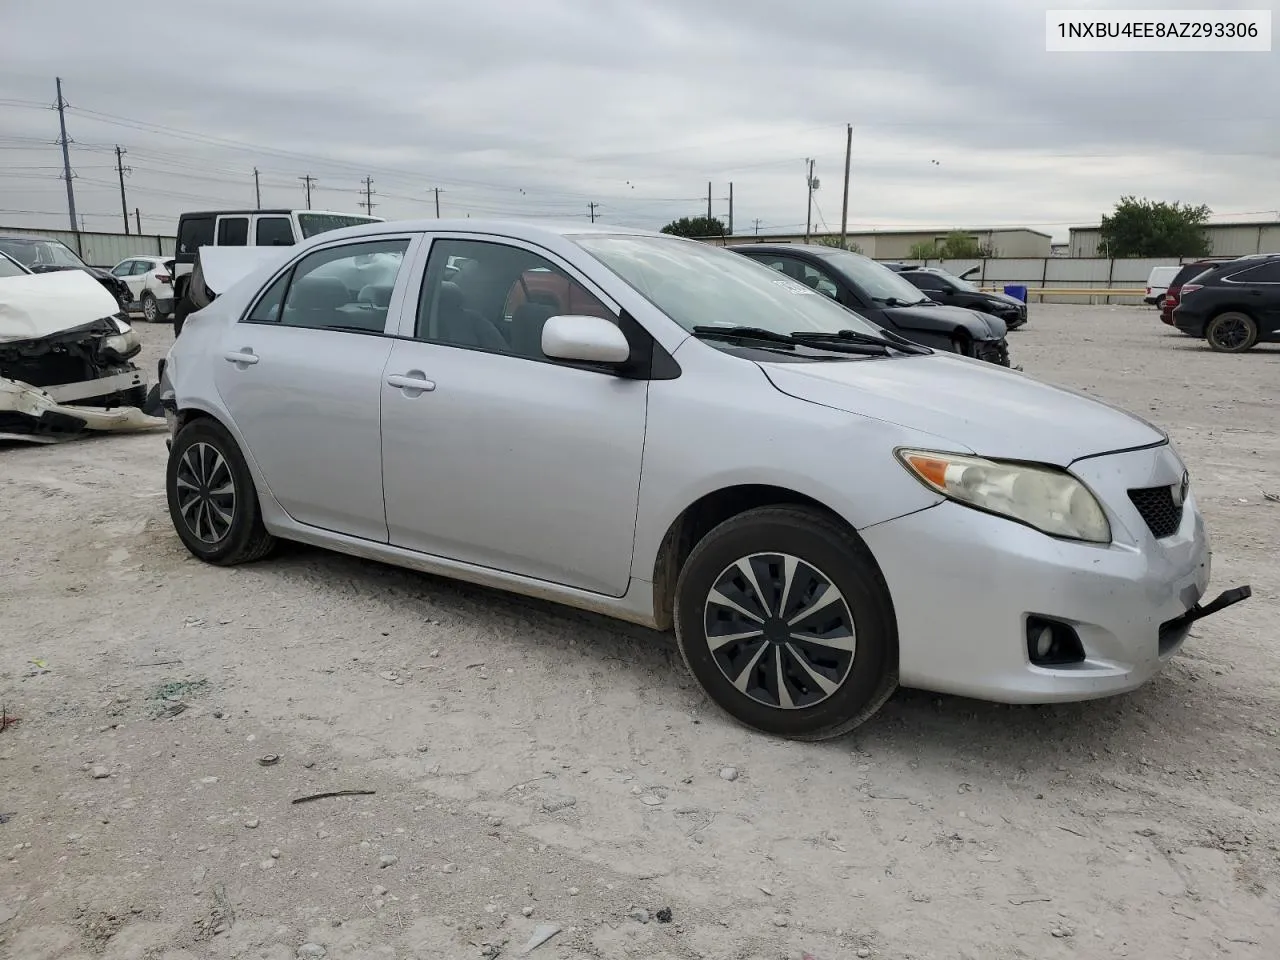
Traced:
[[[783, 591], [769, 577], [786, 568], [783, 556], [797, 564], [790, 589], [780, 596]], [[750, 564], [755, 584], [768, 598], [755, 590], [741, 567], [735, 570], [740, 562]], [[827, 586], [813, 593], [818, 580]], [[756, 609], [763, 605], [771, 616], [762, 625], [756, 644], [744, 640], [713, 652], [709, 635], [740, 635], [739, 625], [754, 626], [733, 608], [712, 599], [717, 585], [732, 593], [733, 582], [749, 585], [737, 594], [745, 604]], [[797, 590], [797, 585], [803, 586]], [[838, 591], [841, 607], [823, 600], [828, 588]], [[814, 613], [823, 612], [823, 621], [795, 616], [785, 621], [781, 616], [803, 609], [812, 600], [823, 600], [813, 607]], [[774, 607], [780, 616], [772, 616]], [[820, 637], [817, 632], [812, 635], [817, 643], [796, 645], [796, 630], [805, 632], [806, 622], [817, 630], [817, 623], [837, 618], [847, 618], [850, 636], [842, 635], [842, 627], [828, 628]], [[791, 621], [795, 628], [787, 625]], [[874, 714], [897, 687], [897, 625], [884, 579], [854, 531], [808, 507], [760, 507], [726, 520], [707, 534], [680, 571], [675, 622], [685, 666], [710, 699], [740, 723], [767, 733], [792, 740], [840, 736]], [[780, 628], [787, 634], [786, 639], [764, 639], [763, 631]], [[842, 640], [851, 649], [827, 645], [828, 639], [837, 636], [840, 640], [835, 643]], [[762, 645], [765, 649], [756, 653]], [[767, 662], [772, 667], [767, 668]], [[739, 672], [739, 667], [745, 668]], [[819, 687], [815, 667], [831, 689]], [[746, 691], [730, 680], [735, 672]], [[786, 699], [774, 692], [783, 689]]]

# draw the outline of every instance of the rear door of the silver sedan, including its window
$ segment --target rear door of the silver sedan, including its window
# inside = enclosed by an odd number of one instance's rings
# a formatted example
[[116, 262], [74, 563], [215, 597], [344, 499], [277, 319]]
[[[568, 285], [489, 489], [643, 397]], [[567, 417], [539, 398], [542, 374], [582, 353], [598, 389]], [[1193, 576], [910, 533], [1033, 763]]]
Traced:
[[[308, 526], [387, 541], [383, 367], [413, 234], [326, 244], [279, 274], [228, 328], [215, 383], [271, 495]], [[357, 289], [357, 262], [392, 268]]]

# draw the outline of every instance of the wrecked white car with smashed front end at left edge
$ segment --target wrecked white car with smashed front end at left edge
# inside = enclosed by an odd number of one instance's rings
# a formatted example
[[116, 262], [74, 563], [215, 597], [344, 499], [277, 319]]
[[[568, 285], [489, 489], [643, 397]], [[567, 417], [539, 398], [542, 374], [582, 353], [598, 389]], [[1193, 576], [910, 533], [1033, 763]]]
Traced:
[[88, 274], [33, 274], [0, 256], [0, 439], [164, 426], [143, 411], [142, 346], [119, 310]]

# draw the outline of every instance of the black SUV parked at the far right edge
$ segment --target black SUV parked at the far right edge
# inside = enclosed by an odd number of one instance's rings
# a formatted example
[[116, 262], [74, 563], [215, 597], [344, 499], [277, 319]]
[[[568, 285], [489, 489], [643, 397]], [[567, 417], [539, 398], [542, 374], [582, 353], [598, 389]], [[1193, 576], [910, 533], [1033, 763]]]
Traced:
[[1280, 343], [1280, 253], [1211, 266], [1183, 284], [1174, 326], [1220, 353]]

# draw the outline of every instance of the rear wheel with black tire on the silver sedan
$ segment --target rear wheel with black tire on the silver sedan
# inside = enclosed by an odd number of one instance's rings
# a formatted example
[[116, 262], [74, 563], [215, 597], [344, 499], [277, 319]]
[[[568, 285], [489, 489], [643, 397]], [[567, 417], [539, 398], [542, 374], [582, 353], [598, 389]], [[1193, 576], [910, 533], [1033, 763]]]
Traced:
[[[218, 493], [228, 485], [229, 499]], [[193, 498], [192, 489], [198, 490]], [[251, 563], [275, 547], [275, 538], [262, 526], [257, 490], [244, 457], [216, 420], [201, 417], [178, 431], [169, 449], [165, 492], [178, 538], [206, 563], [224, 567]]]

